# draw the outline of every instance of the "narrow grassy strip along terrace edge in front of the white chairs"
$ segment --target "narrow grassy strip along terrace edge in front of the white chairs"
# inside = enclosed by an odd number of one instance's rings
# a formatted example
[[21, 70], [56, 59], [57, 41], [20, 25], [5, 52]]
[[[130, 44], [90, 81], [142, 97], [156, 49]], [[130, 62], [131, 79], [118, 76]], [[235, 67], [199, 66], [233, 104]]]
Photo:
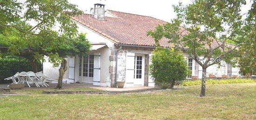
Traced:
[[18, 90], [11, 90], [11, 92], [41, 94], [44, 90], [49, 90], [49, 91], [61, 91], [61, 90], [102, 91], [100, 89], [94, 89], [94, 88], [65, 88], [65, 89], [18, 89]]

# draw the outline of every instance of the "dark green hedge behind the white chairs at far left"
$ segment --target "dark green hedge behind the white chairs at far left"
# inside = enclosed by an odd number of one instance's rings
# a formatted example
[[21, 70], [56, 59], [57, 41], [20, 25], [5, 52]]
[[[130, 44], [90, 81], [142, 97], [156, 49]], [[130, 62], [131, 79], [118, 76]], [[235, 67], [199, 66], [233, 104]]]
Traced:
[[[41, 63], [37, 63], [38, 70], [42, 70]], [[7, 77], [13, 76], [18, 72], [19, 60], [18, 59], [9, 59], [9, 58], [0, 58], [0, 83], [11, 83], [11, 80], [4, 80]], [[28, 60], [20, 60], [20, 71], [32, 71], [32, 67]], [[20, 72], [19, 71], [19, 72]]]

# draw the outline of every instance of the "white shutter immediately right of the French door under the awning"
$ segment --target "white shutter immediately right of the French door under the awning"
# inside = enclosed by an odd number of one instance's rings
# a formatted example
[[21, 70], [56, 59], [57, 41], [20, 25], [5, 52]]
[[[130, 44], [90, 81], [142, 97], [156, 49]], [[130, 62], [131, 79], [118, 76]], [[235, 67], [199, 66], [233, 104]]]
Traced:
[[100, 86], [101, 53], [94, 53], [94, 77], [93, 85]]

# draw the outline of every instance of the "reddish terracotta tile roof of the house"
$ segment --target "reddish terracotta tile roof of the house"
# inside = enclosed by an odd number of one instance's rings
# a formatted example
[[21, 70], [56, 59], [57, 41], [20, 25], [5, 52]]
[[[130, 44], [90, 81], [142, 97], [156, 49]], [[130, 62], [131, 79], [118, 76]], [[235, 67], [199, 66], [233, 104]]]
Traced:
[[[155, 19], [153, 17], [123, 13], [108, 10], [111, 14], [116, 17], [106, 17], [105, 20], [95, 19], [90, 14], [82, 14], [75, 16], [72, 19], [79, 22], [82, 25], [100, 33], [101, 35], [111, 39], [116, 44], [130, 44], [130, 45], [143, 45], [143, 46], [154, 46], [155, 40], [151, 36], [147, 36], [148, 30], [155, 30], [157, 25], [166, 24], [167, 22]], [[189, 33], [188, 31], [181, 29], [182, 34]], [[162, 38], [160, 44], [162, 47], [174, 46], [168, 43], [167, 38]], [[218, 46], [214, 40], [213, 46]], [[206, 47], [209, 47], [206, 44]]]

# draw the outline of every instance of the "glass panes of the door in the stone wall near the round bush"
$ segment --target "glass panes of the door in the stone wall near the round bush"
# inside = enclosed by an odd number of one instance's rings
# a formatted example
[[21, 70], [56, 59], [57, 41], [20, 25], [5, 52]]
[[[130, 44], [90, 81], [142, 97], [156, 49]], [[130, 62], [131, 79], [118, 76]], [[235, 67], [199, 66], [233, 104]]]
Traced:
[[134, 78], [140, 79], [142, 77], [142, 56], [135, 56], [134, 69]]

